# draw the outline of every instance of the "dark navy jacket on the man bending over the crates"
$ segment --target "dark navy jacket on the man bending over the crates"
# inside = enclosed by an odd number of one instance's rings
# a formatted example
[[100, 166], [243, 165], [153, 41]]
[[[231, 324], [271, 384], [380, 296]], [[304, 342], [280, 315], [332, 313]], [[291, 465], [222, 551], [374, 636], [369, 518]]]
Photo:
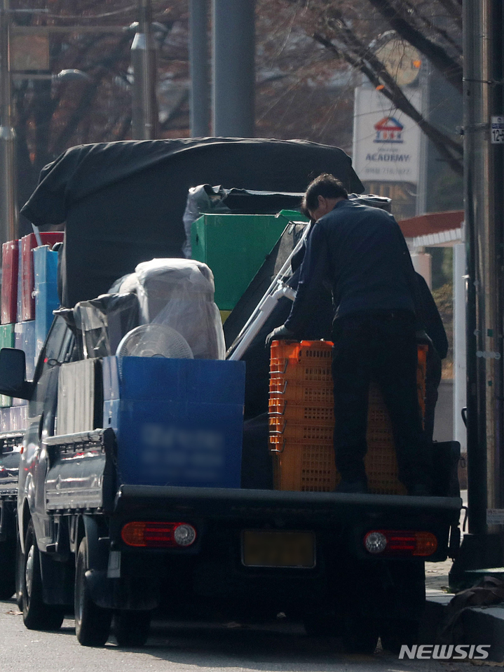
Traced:
[[315, 223], [285, 326], [304, 330], [321, 288], [331, 288], [334, 319], [370, 310], [420, 312], [416, 274], [404, 236], [384, 210], [339, 201]]

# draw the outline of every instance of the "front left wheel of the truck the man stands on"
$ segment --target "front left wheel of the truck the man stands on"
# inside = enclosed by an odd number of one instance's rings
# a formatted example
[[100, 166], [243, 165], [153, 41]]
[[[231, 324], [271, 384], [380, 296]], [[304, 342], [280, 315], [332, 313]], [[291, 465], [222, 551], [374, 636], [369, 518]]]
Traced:
[[22, 619], [25, 626], [29, 630], [59, 630], [64, 610], [60, 606], [46, 605], [43, 601], [39, 547], [32, 520], [27, 527], [22, 570]]

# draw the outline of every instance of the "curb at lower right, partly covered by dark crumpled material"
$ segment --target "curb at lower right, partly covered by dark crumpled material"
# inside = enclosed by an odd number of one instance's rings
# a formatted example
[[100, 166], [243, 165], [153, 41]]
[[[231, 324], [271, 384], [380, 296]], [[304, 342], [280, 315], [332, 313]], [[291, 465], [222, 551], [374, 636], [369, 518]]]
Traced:
[[[437, 629], [444, 617], [444, 611], [453, 597], [449, 593], [427, 589], [427, 601], [420, 628], [420, 641], [435, 643]], [[490, 607], [469, 607], [462, 616], [463, 644], [491, 645], [488, 659], [504, 663], [504, 605]]]

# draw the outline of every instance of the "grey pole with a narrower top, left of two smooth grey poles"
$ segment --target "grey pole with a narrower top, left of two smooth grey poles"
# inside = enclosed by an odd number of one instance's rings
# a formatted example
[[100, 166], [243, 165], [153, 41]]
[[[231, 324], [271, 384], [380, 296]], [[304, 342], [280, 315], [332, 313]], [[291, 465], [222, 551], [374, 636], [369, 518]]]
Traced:
[[156, 53], [152, 41], [150, 0], [139, 0], [138, 32], [131, 45], [132, 137], [152, 140], [158, 135]]

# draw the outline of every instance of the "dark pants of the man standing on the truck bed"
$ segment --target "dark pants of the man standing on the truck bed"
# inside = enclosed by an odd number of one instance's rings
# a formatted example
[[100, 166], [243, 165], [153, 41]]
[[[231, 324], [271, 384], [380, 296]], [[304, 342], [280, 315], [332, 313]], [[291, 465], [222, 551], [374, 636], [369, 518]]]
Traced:
[[354, 313], [333, 325], [334, 451], [344, 480], [365, 480], [369, 382], [381, 389], [393, 426], [399, 478], [430, 485], [430, 445], [416, 389], [417, 345], [409, 311]]

